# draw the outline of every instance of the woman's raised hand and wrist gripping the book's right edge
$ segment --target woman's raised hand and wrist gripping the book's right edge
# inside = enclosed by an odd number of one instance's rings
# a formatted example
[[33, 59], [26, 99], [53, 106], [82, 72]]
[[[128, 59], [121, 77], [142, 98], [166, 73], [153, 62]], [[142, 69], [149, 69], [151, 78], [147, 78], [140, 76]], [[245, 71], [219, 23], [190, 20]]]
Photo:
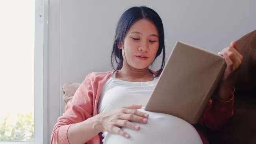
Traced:
[[234, 90], [234, 76], [243, 61], [243, 56], [237, 52], [236, 42], [231, 42], [230, 46], [218, 54], [224, 57], [227, 65], [219, 85], [218, 96], [221, 100], [229, 100]]

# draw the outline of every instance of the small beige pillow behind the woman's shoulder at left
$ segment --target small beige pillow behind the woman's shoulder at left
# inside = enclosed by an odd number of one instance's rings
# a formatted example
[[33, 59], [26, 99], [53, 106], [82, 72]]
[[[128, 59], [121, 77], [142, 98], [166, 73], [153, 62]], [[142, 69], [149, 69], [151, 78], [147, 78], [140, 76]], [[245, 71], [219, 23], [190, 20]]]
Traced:
[[80, 85], [81, 85], [80, 83], [65, 83], [62, 86], [63, 101], [65, 103], [65, 109], [66, 109], [67, 103], [72, 100], [76, 90]]

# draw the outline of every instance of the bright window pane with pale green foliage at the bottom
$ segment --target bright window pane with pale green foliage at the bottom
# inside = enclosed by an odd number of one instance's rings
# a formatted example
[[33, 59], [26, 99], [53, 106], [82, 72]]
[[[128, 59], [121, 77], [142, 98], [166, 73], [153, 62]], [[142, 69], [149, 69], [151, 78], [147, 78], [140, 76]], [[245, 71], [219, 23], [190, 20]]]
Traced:
[[0, 18], [0, 142], [34, 140], [35, 0], [1, 0]]

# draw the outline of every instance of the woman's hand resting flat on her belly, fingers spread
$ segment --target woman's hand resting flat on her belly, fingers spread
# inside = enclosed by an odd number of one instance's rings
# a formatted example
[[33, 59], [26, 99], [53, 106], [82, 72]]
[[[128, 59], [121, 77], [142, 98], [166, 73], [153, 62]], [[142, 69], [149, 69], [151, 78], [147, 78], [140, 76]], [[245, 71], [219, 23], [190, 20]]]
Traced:
[[93, 117], [99, 122], [100, 132], [104, 130], [129, 138], [130, 136], [122, 131], [121, 127], [138, 130], [139, 126], [130, 121], [146, 124], [148, 114], [137, 110], [141, 107], [142, 105], [132, 105], [108, 113], [100, 113]]

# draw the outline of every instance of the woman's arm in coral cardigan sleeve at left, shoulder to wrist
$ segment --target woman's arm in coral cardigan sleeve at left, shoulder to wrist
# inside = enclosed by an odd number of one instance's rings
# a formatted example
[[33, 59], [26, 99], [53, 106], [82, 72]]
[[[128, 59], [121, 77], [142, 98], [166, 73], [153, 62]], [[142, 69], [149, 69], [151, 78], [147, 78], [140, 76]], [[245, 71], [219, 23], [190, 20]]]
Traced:
[[51, 144], [84, 144], [98, 134], [92, 122], [93, 92], [92, 75], [89, 74], [80, 85], [72, 101], [67, 104], [63, 116], [58, 118], [52, 132]]

